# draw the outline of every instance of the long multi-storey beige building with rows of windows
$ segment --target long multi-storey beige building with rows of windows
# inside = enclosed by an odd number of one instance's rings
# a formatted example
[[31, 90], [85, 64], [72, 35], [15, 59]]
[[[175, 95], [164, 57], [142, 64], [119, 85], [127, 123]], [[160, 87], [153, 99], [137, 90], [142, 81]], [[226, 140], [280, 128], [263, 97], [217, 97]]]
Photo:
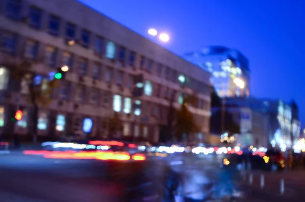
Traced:
[[[175, 107], [182, 93], [196, 92], [190, 110], [202, 134], [209, 131], [208, 72], [78, 1], [2, 0], [0, 33], [0, 132], [30, 132], [27, 85], [11, 71], [23, 59], [32, 61], [38, 86], [57, 67], [70, 67], [52, 102], [39, 108], [40, 137], [79, 130], [105, 136], [116, 111], [124, 126], [119, 137], [157, 142], [165, 135], [173, 92]], [[135, 82], [142, 91], [133, 91]], [[16, 123], [10, 119], [17, 106], [24, 109]]]

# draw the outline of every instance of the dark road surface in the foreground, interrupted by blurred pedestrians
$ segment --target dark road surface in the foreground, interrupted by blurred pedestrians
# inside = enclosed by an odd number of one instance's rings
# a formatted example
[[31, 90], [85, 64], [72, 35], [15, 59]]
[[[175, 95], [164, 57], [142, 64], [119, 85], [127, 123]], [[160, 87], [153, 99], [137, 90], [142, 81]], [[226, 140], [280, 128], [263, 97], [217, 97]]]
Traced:
[[[159, 178], [162, 175], [158, 175], [164, 172], [161, 162], [154, 160], [128, 165], [97, 160], [46, 159], [12, 152], [0, 156], [0, 197], [4, 202], [129, 201], [126, 188], [132, 188], [139, 182], [162, 182]], [[199, 161], [199, 164], [202, 163]], [[302, 198], [305, 171], [252, 173], [252, 185], [249, 184], [248, 174], [240, 186], [246, 198], [238, 201], [280, 202], [288, 198], [289, 201]], [[262, 174], [263, 189], [260, 188]], [[285, 181], [283, 195], [280, 194], [281, 179]]]

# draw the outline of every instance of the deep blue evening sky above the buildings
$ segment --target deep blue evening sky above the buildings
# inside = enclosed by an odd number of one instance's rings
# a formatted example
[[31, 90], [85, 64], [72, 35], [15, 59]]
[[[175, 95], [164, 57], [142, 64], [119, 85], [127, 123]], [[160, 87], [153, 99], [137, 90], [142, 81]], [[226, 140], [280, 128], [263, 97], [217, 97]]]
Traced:
[[250, 62], [252, 96], [285, 101], [294, 99], [304, 123], [305, 1], [81, 2], [147, 38], [150, 37], [147, 34], [149, 27], [167, 32], [171, 41], [163, 46], [178, 55], [209, 45], [240, 50]]

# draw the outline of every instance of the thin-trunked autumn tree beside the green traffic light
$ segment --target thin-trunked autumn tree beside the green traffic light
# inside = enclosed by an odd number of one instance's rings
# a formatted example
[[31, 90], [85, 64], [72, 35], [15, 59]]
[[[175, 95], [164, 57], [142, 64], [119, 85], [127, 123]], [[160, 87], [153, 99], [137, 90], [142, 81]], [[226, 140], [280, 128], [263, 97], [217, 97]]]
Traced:
[[32, 122], [30, 131], [33, 135], [33, 141], [36, 142], [39, 107], [45, 107], [52, 101], [51, 93], [57, 87], [57, 80], [47, 78], [35, 83], [34, 79], [37, 75], [33, 72], [32, 67], [32, 62], [28, 60], [21, 61], [13, 69], [13, 79], [20, 84], [20, 93], [33, 106], [33, 111], [30, 113], [28, 121]]

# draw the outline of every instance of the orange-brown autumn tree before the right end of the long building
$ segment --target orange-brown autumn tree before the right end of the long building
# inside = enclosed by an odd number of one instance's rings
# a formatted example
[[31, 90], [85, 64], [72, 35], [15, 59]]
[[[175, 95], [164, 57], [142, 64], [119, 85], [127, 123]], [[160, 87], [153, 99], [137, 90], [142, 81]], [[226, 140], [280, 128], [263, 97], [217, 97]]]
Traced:
[[188, 109], [189, 104], [195, 103], [195, 95], [184, 96], [184, 101], [176, 112], [175, 129], [178, 141], [181, 141], [184, 138], [184, 134], [188, 138], [190, 134], [199, 133], [201, 131], [201, 128], [196, 123], [192, 112]]

